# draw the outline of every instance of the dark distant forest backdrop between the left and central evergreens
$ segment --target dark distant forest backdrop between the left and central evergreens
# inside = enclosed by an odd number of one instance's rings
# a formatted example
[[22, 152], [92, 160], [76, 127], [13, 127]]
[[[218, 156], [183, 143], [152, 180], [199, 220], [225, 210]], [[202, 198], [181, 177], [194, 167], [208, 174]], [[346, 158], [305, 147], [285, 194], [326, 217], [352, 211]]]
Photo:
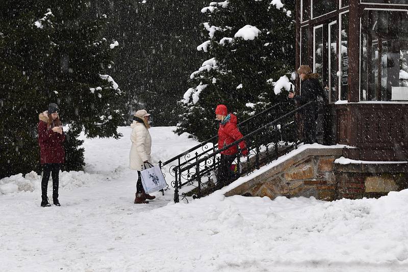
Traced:
[[196, 22], [204, 17], [204, 2], [98, 0], [92, 7], [113, 16], [107, 35], [120, 45], [112, 76], [126, 95], [123, 112], [145, 108], [155, 126], [177, 123], [176, 101], [202, 58], [196, 50], [202, 42]]

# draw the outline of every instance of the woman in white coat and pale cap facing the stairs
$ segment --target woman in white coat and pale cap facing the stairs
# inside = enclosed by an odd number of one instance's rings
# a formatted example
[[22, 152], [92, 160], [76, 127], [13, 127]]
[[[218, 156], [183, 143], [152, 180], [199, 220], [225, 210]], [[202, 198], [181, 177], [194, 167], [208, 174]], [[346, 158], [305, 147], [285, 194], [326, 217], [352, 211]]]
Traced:
[[149, 116], [150, 114], [145, 110], [139, 110], [133, 117], [133, 123], [131, 124], [132, 148], [130, 152], [130, 168], [137, 170], [138, 173], [135, 204], [149, 203], [146, 199], [152, 200], [156, 198], [144, 192], [140, 175], [140, 171], [144, 169], [144, 164], [150, 160], [151, 137], [148, 131], [150, 127], [148, 124]]

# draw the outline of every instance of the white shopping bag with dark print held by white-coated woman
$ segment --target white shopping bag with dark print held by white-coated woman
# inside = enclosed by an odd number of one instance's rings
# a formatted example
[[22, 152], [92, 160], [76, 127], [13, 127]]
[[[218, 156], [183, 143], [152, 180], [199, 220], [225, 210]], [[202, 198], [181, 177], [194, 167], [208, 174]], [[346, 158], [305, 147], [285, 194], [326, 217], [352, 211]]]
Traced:
[[166, 180], [158, 165], [153, 166], [149, 162], [146, 162], [144, 167], [145, 170], [142, 170], [140, 174], [142, 176], [142, 184], [146, 194], [154, 193], [167, 187]]

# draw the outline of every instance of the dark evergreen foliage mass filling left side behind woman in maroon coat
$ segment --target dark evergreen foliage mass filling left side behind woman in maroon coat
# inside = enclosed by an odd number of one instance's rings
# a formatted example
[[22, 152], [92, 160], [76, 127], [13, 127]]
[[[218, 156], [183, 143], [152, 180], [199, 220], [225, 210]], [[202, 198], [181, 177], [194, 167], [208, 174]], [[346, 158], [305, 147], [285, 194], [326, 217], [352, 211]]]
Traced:
[[40, 169], [38, 114], [50, 102], [59, 104], [61, 120], [71, 129], [65, 170], [84, 165], [78, 141], [83, 128], [88, 137], [120, 136], [120, 91], [99, 76], [110, 73], [115, 49], [101, 36], [107, 18], [89, 16], [87, 3], [28, 0], [0, 6], [0, 178]]

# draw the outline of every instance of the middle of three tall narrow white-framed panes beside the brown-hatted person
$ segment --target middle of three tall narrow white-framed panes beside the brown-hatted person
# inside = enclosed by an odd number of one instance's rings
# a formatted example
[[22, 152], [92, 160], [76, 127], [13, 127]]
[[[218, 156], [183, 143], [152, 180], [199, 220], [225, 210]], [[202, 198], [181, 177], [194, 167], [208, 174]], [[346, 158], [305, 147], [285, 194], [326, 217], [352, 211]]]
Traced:
[[339, 28], [337, 22], [328, 24], [328, 90], [330, 102], [339, 100], [339, 80], [337, 71], [339, 70], [337, 48], [339, 37]]

